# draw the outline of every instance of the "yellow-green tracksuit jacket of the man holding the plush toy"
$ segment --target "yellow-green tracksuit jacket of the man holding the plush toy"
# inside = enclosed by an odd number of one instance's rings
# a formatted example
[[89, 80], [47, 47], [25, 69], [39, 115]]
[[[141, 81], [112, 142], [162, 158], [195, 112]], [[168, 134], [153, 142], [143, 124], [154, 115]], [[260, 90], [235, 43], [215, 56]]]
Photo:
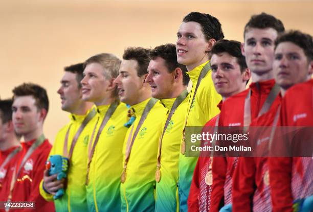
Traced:
[[[91, 111], [91, 110], [90, 110]], [[90, 112], [88, 111], [88, 112]], [[87, 114], [88, 114], [87, 112]], [[86, 115], [87, 115], [86, 114]], [[69, 131], [68, 139], [68, 151], [70, 151], [72, 140], [76, 134], [78, 128], [82, 124], [86, 115], [70, 115], [70, 123], [65, 125], [56, 135], [55, 142], [50, 151], [50, 155], [63, 155], [65, 135], [68, 131], [70, 125], [71, 129]], [[70, 168], [68, 172], [68, 184], [65, 189], [65, 194], [57, 200], [54, 200], [56, 211], [72, 211], [72, 212], [85, 212], [87, 211], [86, 202], [86, 158], [87, 158], [87, 145], [90, 139], [90, 132], [93, 130], [92, 122], [96, 119], [96, 116], [88, 122], [80, 136], [77, 139], [77, 143], [73, 150], [72, 158], [70, 160]], [[41, 196], [47, 201], [53, 201], [53, 195], [46, 193], [42, 188], [41, 181], [39, 186], [39, 191]]]

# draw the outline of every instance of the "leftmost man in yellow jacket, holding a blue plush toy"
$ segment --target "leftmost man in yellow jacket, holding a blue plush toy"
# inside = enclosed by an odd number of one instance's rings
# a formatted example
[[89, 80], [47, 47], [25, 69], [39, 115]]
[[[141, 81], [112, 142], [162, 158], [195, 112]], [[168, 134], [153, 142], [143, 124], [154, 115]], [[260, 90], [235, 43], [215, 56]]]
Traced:
[[[42, 184], [39, 187], [41, 196], [47, 201], [54, 201], [56, 211], [86, 211], [86, 167], [87, 142], [93, 129], [90, 121], [95, 116], [93, 103], [82, 100], [80, 81], [83, 78], [83, 63], [64, 68], [65, 73], [60, 81], [58, 94], [61, 109], [70, 113], [70, 123], [60, 129], [50, 155], [62, 155], [69, 159], [67, 184], [56, 180], [56, 175], [49, 176], [44, 171]], [[61, 187], [66, 187], [65, 194], [54, 200], [53, 195]]]

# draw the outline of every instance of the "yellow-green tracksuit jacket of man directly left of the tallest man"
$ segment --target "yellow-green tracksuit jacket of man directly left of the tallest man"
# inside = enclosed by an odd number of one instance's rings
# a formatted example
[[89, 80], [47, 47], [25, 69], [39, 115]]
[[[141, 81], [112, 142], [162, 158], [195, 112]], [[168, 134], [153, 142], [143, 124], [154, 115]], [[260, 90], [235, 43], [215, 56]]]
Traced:
[[[175, 100], [176, 98], [161, 100], [168, 113]], [[163, 135], [160, 169], [161, 180], [157, 182], [157, 200], [155, 201], [155, 211], [157, 212], [178, 211], [178, 158], [180, 156], [188, 100], [189, 96], [176, 108]], [[162, 131], [168, 113], [162, 123]]]

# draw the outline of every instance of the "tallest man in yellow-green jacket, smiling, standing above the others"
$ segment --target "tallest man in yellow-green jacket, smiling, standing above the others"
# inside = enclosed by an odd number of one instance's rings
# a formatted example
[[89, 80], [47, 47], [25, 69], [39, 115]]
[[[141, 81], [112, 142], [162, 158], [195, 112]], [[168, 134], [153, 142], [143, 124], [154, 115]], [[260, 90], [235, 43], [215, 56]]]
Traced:
[[216, 41], [224, 37], [217, 18], [199, 12], [186, 15], [177, 32], [177, 61], [187, 67], [192, 82], [187, 116], [184, 124], [181, 154], [179, 159], [180, 211], [187, 211], [187, 199], [197, 157], [185, 157], [185, 127], [204, 126], [219, 109], [221, 97], [216, 92], [212, 78], [209, 56]]

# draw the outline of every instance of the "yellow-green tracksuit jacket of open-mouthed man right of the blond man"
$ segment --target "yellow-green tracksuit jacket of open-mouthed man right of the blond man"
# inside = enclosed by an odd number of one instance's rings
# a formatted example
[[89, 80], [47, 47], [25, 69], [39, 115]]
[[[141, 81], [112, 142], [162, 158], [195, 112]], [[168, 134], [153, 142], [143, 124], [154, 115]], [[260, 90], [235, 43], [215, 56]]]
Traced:
[[[132, 108], [135, 111], [136, 120], [133, 123], [132, 135], [135, 133], [147, 99]], [[155, 205], [155, 170], [157, 167], [157, 153], [159, 138], [164, 122], [166, 109], [158, 102], [151, 108], [146, 120], [142, 124], [135, 138], [126, 169], [126, 181], [121, 184], [121, 211], [149, 212], [154, 211]], [[126, 144], [132, 126], [128, 129], [123, 147], [124, 167]]]

